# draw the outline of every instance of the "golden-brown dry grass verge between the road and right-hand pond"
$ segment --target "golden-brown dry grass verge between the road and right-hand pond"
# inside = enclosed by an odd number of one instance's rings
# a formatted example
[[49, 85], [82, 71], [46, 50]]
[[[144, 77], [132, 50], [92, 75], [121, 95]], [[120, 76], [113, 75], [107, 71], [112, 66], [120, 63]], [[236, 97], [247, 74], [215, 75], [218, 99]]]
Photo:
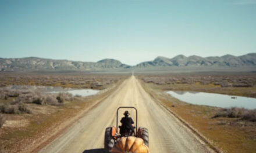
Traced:
[[[250, 120], [251, 117], [254, 116], [254, 113], [251, 115], [247, 113], [247, 111], [244, 111], [243, 108], [233, 108], [233, 110], [230, 108], [228, 109], [229, 111], [226, 111], [228, 113], [225, 114], [240, 116], [240, 118], [212, 118], [212, 116], [215, 116], [218, 112], [222, 112], [223, 109], [184, 103], [166, 94], [165, 85], [141, 82], [144, 89], [147, 90], [154, 99], [160, 101], [169, 110], [188, 122], [193, 128], [197, 129], [202, 135], [207, 137], [207, 139], [211, 140], [216, 147], [224, 152], [255, 152], [256, 123]], [[191, 89], [191, 86], [188, 87]], [[208, 88], [208, 91], [214, 88]], [[186, 90], [184, 86], [183, 89]], [[173, 107], [173, 105], [175, 105], [175, 107]], [[252, 113], [254, 111], [250, 112]]]

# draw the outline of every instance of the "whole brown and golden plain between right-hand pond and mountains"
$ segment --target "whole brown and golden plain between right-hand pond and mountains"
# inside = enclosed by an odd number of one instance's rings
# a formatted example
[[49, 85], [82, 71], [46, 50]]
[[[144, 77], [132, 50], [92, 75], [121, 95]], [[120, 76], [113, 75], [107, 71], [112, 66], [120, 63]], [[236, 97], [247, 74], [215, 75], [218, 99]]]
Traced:
[[149, 75], [138, 76], [163, 90], [185, 90], [256, 97], [256, 75]]

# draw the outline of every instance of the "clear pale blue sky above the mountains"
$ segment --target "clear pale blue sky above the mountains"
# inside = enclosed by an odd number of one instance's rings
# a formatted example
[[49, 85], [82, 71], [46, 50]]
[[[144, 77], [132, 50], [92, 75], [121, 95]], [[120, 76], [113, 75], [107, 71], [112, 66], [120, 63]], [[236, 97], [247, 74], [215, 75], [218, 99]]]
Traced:
[[0, 0], [0, 57], [135, 65], [256, 49], [256, 0]]

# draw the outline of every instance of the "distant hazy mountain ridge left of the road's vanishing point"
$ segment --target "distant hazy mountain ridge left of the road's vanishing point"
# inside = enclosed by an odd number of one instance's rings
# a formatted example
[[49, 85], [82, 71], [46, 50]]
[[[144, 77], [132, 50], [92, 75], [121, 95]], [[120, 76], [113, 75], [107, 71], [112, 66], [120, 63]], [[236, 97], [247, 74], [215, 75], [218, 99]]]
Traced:
[[126, 68], [130, 68], [130, 66], [113, 59], [97, 62], [52, 60], [38, 57], [0, 59], [0, 71], [92, 71]]

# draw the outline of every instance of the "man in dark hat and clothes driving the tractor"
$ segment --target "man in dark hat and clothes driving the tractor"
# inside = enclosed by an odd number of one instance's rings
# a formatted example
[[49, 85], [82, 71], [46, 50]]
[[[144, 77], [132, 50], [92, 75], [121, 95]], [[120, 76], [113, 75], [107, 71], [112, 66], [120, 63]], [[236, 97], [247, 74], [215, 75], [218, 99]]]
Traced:
[[133, 119], [129, 117], [130, 113], [125, 111], [125, 117], [121, 119], [122, 126], [120, 126], [121, 136], [131, 136], [134, 133]]

